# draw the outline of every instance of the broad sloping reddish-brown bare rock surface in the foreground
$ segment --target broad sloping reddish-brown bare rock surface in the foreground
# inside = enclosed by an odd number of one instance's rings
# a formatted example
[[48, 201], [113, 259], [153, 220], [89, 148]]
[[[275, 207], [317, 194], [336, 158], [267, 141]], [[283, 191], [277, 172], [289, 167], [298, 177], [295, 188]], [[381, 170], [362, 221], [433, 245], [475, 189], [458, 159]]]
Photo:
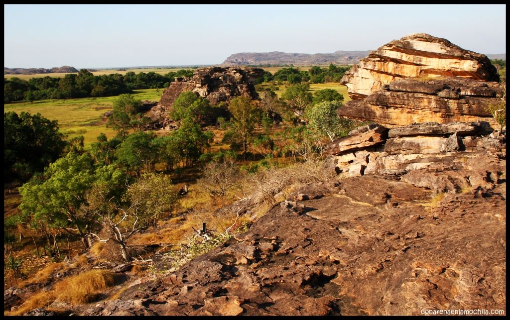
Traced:
[[[441, 197], [431, 179], [428, 185], [414, 185], [432, 169], [416, 170], [407, 179], [363, 176], [310, 184], [293, 194], [301, 200], [273, 206], [247, 233], [162, 280], [126, 289], [119, 300], [100, 304], [94, 312], [420, 315], [422, 309], [505, 310], [506, 171], [491, 160], [480, 165], [499, 172], [490, 188], [474, 189], [474, 184]], [[448, 166], [436, 173], [470, 176], [467, 169]]]

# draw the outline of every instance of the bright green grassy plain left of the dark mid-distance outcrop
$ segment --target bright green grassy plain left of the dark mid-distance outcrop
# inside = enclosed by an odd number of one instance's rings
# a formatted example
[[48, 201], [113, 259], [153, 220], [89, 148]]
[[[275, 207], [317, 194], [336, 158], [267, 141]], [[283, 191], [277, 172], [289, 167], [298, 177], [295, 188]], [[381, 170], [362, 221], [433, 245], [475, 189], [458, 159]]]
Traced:
[[[163, 89], [159, 91], [140, 89], [135, 90], [133, 95], [141, 100], [159, 101], [162, 93]], [[115, 136], [115, 131], [107, 128], [102, 119], [105, 112], [113, 110], [113, 101], [116, 99], [117, 96], [8, 103], [4, 104], [4, 112], [40, 113], [50, 120], [58, 120], [63, 134], [68, 135], [69, 138], [83, 135], [85, 148], [88, 148], [101, 132], [108, 138]]]

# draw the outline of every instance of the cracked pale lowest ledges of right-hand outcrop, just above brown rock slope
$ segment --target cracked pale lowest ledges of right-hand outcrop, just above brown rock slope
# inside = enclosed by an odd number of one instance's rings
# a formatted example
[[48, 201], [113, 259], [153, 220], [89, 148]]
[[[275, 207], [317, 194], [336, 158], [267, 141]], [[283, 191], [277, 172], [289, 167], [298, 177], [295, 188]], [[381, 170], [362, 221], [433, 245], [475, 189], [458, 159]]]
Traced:
[[[383, 130], [381, 126], [377, 128]], [[500, 156], [501, 152], [505, 151], [505, 135], [500, 135], [497, 139], [486, 136], [491, 129], [488, 123], [484, 122], [413, 124], [390, 129], [386, 136], [380, 137], [382, 140], [378, 139], [376, 145], [360, 148], [355, 144], [345, 143], [365, 141], [373, 130], [341, 138], [329, 144], [328, 151], [334, 155], [333, 165], [330, 167], [336, 174], [404, 175], [424, 168], [439, 170], [442, 166], [448, 165], [465, 167], [471, 162], [476, 162], [476, 159], [484, 156], [488, 150]], [[387, 137], [389, 138], [386, 140]], [[339, 145], [346, 147], [340, 149]], [[472, 170], [471, 179], [480, 181], [477, 186], [487, 186], [486, 171]], [[451, 184], [448, 190], [462, 189], [463, 185], [462, 181]]]

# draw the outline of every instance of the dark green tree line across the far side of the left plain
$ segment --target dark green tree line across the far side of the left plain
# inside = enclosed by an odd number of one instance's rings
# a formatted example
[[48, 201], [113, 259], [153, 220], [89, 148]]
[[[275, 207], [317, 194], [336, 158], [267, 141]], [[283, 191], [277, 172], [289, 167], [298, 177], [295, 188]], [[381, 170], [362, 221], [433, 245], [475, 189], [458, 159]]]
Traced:
[[85, 97], [106, 97], [131, 93], [135, 89], [153, 89], [168, 87], [175, 77], [192, 76], [193, 70], [182, 69], [167, 74], [156, 72], [130, 71], [93, 75], [87, 69], [64, 77], [30, 78], [28, 81], [13, 77], [4, 78], [4, 103], [20, 100], [71, 99]]

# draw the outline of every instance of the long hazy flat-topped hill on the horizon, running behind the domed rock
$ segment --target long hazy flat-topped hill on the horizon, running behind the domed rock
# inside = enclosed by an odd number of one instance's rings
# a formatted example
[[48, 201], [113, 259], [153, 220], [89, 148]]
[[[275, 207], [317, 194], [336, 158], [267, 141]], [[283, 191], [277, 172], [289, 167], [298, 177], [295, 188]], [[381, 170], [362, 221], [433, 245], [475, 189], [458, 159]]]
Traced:
[[[354, 64], [365, 58], [370, 50], [365, 51], [335, 51], [333, 54], [297, 54], [281, 51], [273, 52], [242, 52], [234, 54], [223, 61], [228, 66], [253, 65], [325, 65], [325, 64]], [[506, 54], [488, 54], [489, 59], [506, 60]]]

